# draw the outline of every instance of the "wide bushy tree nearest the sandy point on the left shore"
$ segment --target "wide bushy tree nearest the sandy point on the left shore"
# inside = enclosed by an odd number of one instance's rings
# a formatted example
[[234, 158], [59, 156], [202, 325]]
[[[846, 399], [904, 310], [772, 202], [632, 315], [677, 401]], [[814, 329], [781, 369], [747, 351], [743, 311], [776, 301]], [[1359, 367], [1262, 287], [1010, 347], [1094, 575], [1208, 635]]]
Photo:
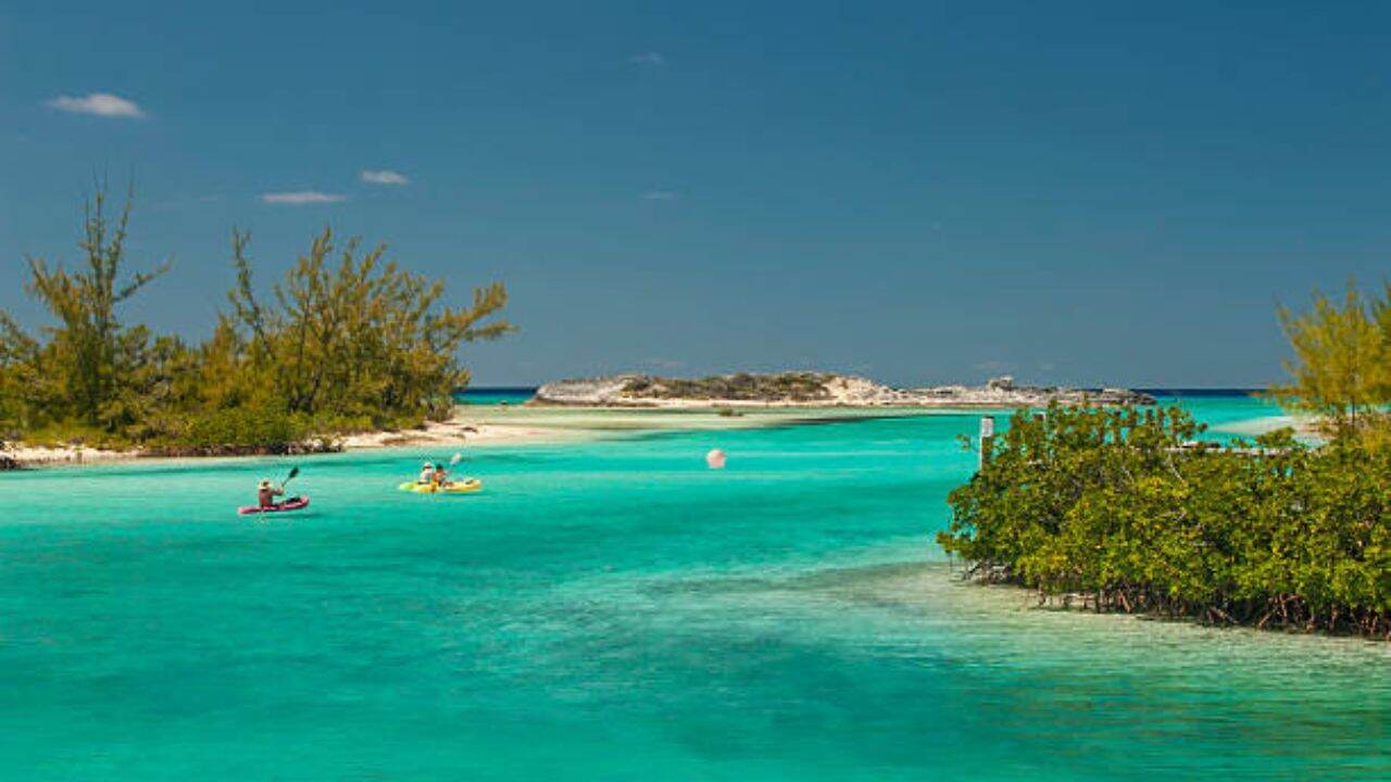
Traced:
[[444, 306], [442, 281], [384, 260], [384, 245], [363, 252], [353, 238], [339, 246], [330, 228], [263, 302], [252, 284], [249, 241], [232, 235], [228, 323], [239, 333], [221, 338], [243, 346], [248, 369], [266, 378], [287, 413], [373, 426], [444, 417], [452, 392], [469, 381], [459, 348], [513, 330], [495, 317], [508, 301], [502, 284], [474, 289], [467, 308]]

